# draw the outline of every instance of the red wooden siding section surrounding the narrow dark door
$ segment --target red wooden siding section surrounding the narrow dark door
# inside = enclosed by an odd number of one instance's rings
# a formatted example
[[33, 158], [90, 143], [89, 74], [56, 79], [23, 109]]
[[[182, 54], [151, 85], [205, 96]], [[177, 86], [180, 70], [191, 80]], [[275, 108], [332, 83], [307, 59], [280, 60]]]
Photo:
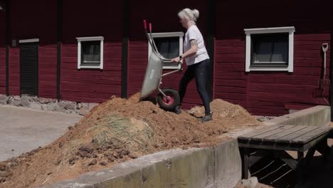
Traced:
[[56, 98], [56, 0], [11, 1], [11, 39], [17, 47], [10, 50], [9, 92], [20, 94], [20, 51], [18, 40], [39, 38], [38, 95]]

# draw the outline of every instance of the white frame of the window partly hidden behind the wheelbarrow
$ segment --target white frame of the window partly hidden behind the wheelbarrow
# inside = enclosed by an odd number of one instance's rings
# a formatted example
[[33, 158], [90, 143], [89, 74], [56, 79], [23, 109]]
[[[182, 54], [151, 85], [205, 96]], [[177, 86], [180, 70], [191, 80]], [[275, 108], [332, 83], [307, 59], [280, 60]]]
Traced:
[[[179, 55], [183, 54], [183, 32], [169, 32], [169, 33], [152, 33], [152, 38], [169, 38], [169, 37], [179, 37]], [[152, 46], [148, 43], [148, 58], [152, 53]], [[175, 57], [176, 58], [176, 57]], [[183, 61], [181, 61], [183, 62]], [[176, 63], [174, 66], [163, 66], [163, 69], [179, 69], [181, 66]]]

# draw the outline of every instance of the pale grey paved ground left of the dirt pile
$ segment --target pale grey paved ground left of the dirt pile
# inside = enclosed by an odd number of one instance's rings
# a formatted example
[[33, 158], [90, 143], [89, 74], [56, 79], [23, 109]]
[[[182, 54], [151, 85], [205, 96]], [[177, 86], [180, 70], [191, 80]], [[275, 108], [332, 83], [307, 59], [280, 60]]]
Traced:
[[0, 161], [48, 145], [82, 117], [0, 105]]

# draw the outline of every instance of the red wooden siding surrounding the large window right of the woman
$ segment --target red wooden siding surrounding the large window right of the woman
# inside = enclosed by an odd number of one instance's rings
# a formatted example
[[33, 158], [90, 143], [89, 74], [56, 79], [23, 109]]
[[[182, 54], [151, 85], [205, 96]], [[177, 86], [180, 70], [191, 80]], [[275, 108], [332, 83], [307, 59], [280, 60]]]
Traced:
[[[282, 115], [289, 109], [328, 105], [317, 94], [322, 70], [322, 43], [331, 40], [329, 16], [323, 15], [329, 11], [322, 4], [306, 2], [279, 1], [274, 9], [272, 4], [264, 1], [256, 1], [255, 5], [248, 3], [243, 2], [238, 9], [226, 9], [236, 7], [236, 2], [217, 2], [216, 9], [223, 11], [217, 11], [216, 21], [215, 98], [238, 103], [256, 115]], [[295, 26], [294, 72], [245, 73], [243, 29], [277, 26]], [[327, 79], [329, 57], [328, 52]], [[327, 99], [328, 86], [326, 90]]]

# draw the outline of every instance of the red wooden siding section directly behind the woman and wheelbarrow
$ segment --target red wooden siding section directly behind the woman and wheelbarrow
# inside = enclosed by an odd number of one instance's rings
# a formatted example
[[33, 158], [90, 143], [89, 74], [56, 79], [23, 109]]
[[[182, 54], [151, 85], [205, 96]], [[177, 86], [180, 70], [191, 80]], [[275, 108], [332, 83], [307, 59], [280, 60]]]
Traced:
[[[148, 43], [144, 34], [142, 20], [153, 24], [154, 33], [162, 32], [186, 32], [186, 29], [179, 23], [177, 16], [178, 11], [187, 8], [189, 4], [183, 1], [169, 1], [163, 5], [163, 9], [154, 10], [152, 5], [156, 1], [131, 1], [130, 6], [130, 33], [129, 33], [129, 56], [128, 56], [128, 96], [137, 93], [141, 90], [144, 73], [148, 62]], [[206, 31], [206, 2], [196, 1], [191, 3], [190, 9], [198, 9], [200, 12], [198, 27], [205, 38]], [[184, 65], [184, 71], [186, 65]], [[174, 73], [166, 76], [162, 80], [162, 88], [174, 88], [178, 90], [181, 75], [184, 73]], [[190, 108], [194, 105], [201, 104], [199, 94], [196, 92], [195, 82], [192, 81], [187, 89], [184, 98], [184, 108]]]

